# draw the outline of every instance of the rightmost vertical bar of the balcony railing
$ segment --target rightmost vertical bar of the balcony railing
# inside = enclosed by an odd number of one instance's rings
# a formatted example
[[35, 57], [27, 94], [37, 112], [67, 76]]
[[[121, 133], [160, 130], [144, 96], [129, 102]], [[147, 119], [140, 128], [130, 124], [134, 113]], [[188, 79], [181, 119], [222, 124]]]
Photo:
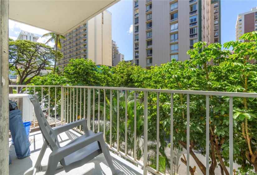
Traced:
[[233, 97], [229, 97], [229, 174], [233, 174]]

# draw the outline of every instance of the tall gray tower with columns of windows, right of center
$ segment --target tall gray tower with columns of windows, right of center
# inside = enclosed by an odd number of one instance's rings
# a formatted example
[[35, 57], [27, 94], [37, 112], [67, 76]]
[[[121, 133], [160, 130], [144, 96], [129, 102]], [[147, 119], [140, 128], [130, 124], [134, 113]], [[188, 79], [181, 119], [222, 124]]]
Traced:
[[134, 0], [133, 14], [133, 60], [144, 68], [185, 61], [198, 41], [221, 41], [218, 0]]

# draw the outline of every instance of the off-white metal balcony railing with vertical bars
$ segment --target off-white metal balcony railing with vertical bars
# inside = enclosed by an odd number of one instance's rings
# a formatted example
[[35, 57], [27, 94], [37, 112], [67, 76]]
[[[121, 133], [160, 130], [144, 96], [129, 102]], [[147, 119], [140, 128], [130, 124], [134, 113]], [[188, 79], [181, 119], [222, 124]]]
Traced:
[[[51, 98], [55, 98], [54, 100], [54, 107], [55, 107], [55, 123], [56, 122], [56, 110], [60, 108], [60, 123], [71, 123], [75, 120], [79, 120], [81, 118], [87, 119], [88, 128], [91, 128], [93, 131], [100, 132], [100, 127], [102, 126], [101, 130], [103, 130], [103, 135], [105, 140], [109, 140], [109, 149], [126, 159], [130, 160], [131, 162], [140, 165], [143, 167], [144, 174], [147, 174], [147, 171], [150, 171], [154, 174], [162, 174], [159, 172], [159, 95], [160, 93], [165, 93], [167, 96], [170, 97], [170, 138], [173, 138], [173, 119], [174, 119], [174, 94], [185, 94], [186, 95], [186, 123], [187, 123], [187, 131], [186, 131], [186, 138], [187, 138], [187, 174], [189, 174], [189, 124], [190, 124], [190, 95], [203, 95], [206, 96], [206, 106], [210, 106], [209, 104], [209, 97], [210, 96], [225, 96], [229, 97], [229, 164], [232, 165], [229, 167], [230, 174], [233, 174], [233, 98], [234, 97], [245, 97], [245, 98], [257, 98], [256, 93], [231, 93], [231, 92], [211, 92], [211, 91], [189, 91], [189, 90], [167, 90], [167, 89], [140, 89], [140, 88], [115, 88], [115, 87], [93, 87], [93, 86], [25, 86], [25, 85], [9, 85], [9, 87], [23, 87], [25, 93], [30, 93], [41, 97], [41, 105], [43, 104], [43, 99], [48, 97], [48, 103], [50, 104], [50, 96]], [[40, 92], [41, 91], [41, 92]], [[48, 93], [47, 93], [48, 91]], [[113, 99], [113, 93], [117, 93], [117, 98]], [[137, 100], [137, 94], [140, 93], [144, 99], [144, 143], [143, 143], [143, 162], [136, 159], [136, 154], [133, 156], [127, 155], [127, 110], [128, 110], [128, 93], [133, 94], [134, 98], [134, 153], [136, 153], [136, 104], [142, 103]], [[157, 128], [157, 162], [156, 162], [156, 169], [151, 168], [148, 165], [148, 154], [147, 154], [147, 147], [148, 147], [148, 95], [156, 94], [156, 107], [157, 107], [157, 117], [156, 117], [156, 128]], [[117, 139], [114, 141], [112, 140], [112, 129], [113, 129], [113, 120], [119, 121], [120, 119], [120, 96], [125, 95], [125, 141], [124, 147], [125, 151], [122, 152], [120, 148], [120, 135], [119, 135], [119, 122], [117, 122]], [[58, 99], [58, 100], [57, 100]], [[98, 99], [98, 102], [97, 102]], [[107, 109], [107, 100], [109, 104], [109, 108]], [[117, 100], [117, 101], [116, 101]], [[93, 104], [91, 104], [91, 101]], [[115, 103], [115, 101], [117, 103]], [[60, 106], [57, 105], [60, 104]], [[100, 107], [100, 104], [102, 105]], [[117, 105], [117, 118], [113, 112], [113, 104]], [[204, 105], [204, 104], [203, 104]], [[86, 108], [87, 107], [87, 108]], [[96, 108], [98, 107], [98, 108]], [[50, 107], [51, 108], [51, 107]], [[100, 110], [101, 109], [101, 110]], [[109, 110], [109, 111], [107, 111]], [[49, 110], [50, 111], [50, 110]], [[98, 112], [98, 115], [95, 115], [95, 112]], [[100, 113], [101, 118], [100, 119]], [[108, 112], [108, 116], [107, 116]], [[92, 114], [92, 116], [91, 116]], [[210, 118], [210, 110], [206, 108], [206, 123], [209, 123]], [[76, 115], [76, 116], [75, 116]], [[82, 117], [83, 116], [83, 117]], [[95, 117], [97, 119], [95, 120]], [[109, 120], [109, 125], [107, 127], [107, 120]], [[49, 119], [48, 119], [49, 121]], [[101, 126], [100, 126], [101, 125]], [[35, 125], [34, 125], [35, 127]], [[96, 128], [97, 127], [97, 128]], [[83, 129], [80, 127], [74, 128], [80, 133], [83, 133]], [[109, 132], [109, 137], [106, 135], [106, 132]], [[206, 124], [206, 131], [210, 131], [210, 126]], [[192, 133], [191, 133], [192, 134]], [[206, 132], [206, 150], [209, 150], [209, 132]], [[114, 144], [117, 141], [116, 144]], [[170, 140], [170, 155], [173, 155], [173, 139]], [[116, 148], [115, 148], [116, 147]], [[140, 148], [139, 148], [140, 149]], [[172, 159], [171, 159], [172, 160]], [[209, 154], [206, 154], [206, 172], [209, 174]], [[173, 164], [171, 163], [170, 172], [173, 172]]]

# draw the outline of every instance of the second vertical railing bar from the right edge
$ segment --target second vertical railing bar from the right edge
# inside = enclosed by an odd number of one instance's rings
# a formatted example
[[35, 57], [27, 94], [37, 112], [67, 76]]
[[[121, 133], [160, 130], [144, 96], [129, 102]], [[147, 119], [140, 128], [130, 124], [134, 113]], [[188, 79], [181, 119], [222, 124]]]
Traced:
[[206, 175], [209, 175], [209, 152], [210, 152], [210, 106], [209, 95], [206, 96]]

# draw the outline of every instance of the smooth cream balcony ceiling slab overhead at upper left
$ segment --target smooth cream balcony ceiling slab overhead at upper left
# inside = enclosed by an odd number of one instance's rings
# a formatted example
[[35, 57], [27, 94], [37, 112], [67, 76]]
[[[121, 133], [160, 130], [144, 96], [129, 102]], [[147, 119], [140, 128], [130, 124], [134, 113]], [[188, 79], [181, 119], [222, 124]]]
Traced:
[[119, 0], [12, 0], [9, 19], [64, 34]]

